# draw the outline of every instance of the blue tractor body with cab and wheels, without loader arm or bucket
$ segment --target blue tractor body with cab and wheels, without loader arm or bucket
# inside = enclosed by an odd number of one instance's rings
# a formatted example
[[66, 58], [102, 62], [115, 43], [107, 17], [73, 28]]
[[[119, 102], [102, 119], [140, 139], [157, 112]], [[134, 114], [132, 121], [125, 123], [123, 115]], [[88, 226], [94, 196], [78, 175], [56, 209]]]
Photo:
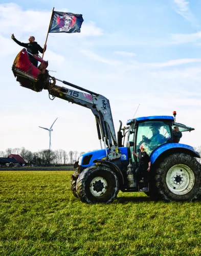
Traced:
[[[175, 114], [174, 114], [175, 115]], [[175, 143], [173, 127], [181, 132], [194, 130], [181, 123], [176, 123], [172, 116], [149, 116], [130, 119], [127, 127], [118, 132], [118, 145], [121, 157], [106, 160], [105, 150], [94, 151], [79, 157], [72, 176], [73, 194], [82, 202], [112, 202], [118, 191], [140, 191], [143, 183], [137, 182], [135, 170], [137, 152], [141, 143], [148, 144], [151, 161], [149, 186], [146, 194], [153, 199], [165, 201], [192, 201], [198, 199], [201, 185], [201, 168], [196, 158], [199, 154], [192, 146]], [[160, 140], [152, 141], [153, 130], [158, 131]], [[123, 135], [122, 131], [123, 130]], [[122, 138], [128, 133], [126, 147], [122, 146]], [[108, 151], [108, 149], [107, 149]], [[109, 153], [109, 151], [108, 151]]]

